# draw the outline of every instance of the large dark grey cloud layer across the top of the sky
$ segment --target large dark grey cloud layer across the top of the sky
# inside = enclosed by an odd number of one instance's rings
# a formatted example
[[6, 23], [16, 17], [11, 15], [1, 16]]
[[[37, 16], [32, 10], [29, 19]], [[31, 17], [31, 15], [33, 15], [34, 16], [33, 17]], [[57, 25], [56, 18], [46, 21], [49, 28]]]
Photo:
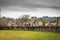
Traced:
[[[34, 8], [60, 9], [60, 0], [0, 0], [0, 7], [9, 8], [10, 6], [28, 8], [29, 10], [30, 9], [33, 10]], [[13, 8], [12, 10], [17, 10], [17, 9]]]

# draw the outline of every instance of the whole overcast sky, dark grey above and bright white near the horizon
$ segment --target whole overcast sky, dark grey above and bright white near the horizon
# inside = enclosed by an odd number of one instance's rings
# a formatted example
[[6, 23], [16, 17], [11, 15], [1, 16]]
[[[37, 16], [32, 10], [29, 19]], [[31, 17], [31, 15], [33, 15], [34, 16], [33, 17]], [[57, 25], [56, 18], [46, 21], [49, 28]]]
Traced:
[[1, 15], [18, 18], [30, 16], [60, 16], [60, 0], [0, 0]]

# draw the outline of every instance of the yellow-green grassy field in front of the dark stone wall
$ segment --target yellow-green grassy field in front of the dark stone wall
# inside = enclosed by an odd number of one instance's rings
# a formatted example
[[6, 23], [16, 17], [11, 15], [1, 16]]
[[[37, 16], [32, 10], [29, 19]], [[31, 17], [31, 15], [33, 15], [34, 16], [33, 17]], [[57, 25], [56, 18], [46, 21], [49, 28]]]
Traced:
[[0, 40], [60, 40], [60, 33], [0, 30]]

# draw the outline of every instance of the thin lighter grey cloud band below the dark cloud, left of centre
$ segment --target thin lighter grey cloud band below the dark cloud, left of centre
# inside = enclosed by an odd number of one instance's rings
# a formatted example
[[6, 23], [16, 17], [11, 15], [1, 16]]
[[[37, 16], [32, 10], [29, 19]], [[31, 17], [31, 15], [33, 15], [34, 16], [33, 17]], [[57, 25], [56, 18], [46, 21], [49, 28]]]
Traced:
[[37, 11], [35, 8], [2, 8], [2, 10], [10, 10], [10, 11], [21, 11], [21, 12], [29, 12], [29, 11]]

